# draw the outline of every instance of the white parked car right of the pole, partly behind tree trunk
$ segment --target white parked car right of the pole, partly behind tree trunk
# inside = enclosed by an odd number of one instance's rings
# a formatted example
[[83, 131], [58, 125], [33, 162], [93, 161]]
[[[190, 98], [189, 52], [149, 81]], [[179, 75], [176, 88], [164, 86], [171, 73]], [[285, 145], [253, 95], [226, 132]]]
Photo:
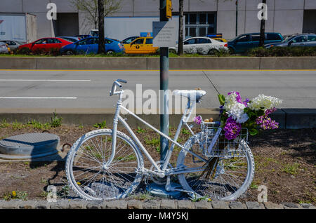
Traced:
[[[183, 42], [183, 53], [199, 53], [202, 55], [214, 54], [216, 51], [223, 49], [228, 50], [227, 43], [222, 43], [209, 37], [192, 37]], [[178, 52], [178, 44], [176, 47], [169, 48], [169, 52]]]

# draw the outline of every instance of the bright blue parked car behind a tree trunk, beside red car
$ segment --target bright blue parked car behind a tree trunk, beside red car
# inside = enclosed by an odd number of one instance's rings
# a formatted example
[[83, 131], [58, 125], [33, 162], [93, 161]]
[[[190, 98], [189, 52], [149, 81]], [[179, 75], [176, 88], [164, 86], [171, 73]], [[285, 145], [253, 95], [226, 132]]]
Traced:
[[[60, 53], [64, 55], [96, 54], [98, 53], [98, 41], [98, 37], [81, 39], [75, 43], [63, 46], [60, 48]], [[105, 38], [105, 52], [107, 54], [124, 53], [124, 46], [117, 40]]]

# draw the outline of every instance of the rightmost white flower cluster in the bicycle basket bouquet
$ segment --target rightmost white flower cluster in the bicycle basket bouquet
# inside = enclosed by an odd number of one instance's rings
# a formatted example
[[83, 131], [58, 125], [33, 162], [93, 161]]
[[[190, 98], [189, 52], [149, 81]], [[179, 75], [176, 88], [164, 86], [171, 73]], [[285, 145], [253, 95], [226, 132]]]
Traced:
[[265, 96], [265, 95], [258, 95], [257, 97], [253, 98], [251, 102], [248, 104], [248, 107], [253, 110], [259, 109], [272, 109], [272, 107], [276, 107], [277, 105], [281, 104], [282, 100], [277, 97]]

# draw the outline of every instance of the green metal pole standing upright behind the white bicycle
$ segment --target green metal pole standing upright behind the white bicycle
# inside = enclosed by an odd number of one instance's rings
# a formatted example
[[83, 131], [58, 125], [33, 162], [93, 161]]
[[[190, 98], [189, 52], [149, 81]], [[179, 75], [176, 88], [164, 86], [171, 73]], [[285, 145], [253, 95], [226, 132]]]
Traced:
[[[166, 18], [166, 0], [160, 0], [160, 21], [168, 21]], [[165, 135], [169, 134], [169, 111], [168, 102], [169, 95], [169, 50], [168, 47], [160, 48], [160, 106], [163, 108], [160, 114], [160, 131]], [[163, 161], [166, 157], [166, 152], [169, 149], [169, 141], [165, 137], [160, 137], [160, 160]]]

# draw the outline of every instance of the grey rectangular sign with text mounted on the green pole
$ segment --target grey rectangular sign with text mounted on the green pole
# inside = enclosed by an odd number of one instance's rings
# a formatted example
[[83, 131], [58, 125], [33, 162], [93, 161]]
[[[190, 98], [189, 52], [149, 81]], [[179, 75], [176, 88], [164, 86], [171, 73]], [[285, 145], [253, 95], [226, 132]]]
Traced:
[[176, 20], [152, 22], [152, 32], [154, 47], [176, 46], [178, 39], [178, 23]]

